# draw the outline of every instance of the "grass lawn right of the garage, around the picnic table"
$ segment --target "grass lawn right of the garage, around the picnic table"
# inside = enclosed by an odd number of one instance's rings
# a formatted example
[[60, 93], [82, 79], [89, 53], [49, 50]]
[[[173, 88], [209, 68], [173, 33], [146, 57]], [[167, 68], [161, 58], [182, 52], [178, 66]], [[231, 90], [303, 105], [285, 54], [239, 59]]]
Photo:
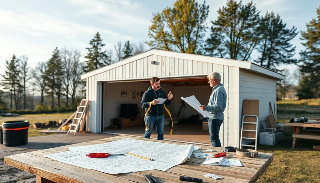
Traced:
[[[319, 111], [320, 99], [280, 101], [277, 103], [277, 121], [287, 123], [290, 116], [320, 118]], [[259, 152], [273, 153], [274, 159], [257, 182], [320, 182], [320, 151], [312, 149], [312, 146], [320, 146], [320, 141], [298, 139], [292, 150], [292, 133], [293, 130], [287, 128], [284, 141], [276, 146], [258, 145]]]

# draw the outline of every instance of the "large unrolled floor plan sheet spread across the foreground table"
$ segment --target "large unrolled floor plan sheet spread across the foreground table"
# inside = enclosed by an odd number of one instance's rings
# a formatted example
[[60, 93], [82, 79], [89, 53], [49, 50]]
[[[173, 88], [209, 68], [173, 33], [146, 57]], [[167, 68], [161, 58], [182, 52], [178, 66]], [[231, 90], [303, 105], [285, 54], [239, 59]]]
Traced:
[[[188, 161], [192, 152], [199, 148], [197, 146], [195, 148], [193, 144], [182, 146], [125, 138], [104, 144], [70, 147], [70, 151], [49, 154], [44, 157], [87, 169], [117, 174], [155, 169], [166, 171], [175, 165]], [[151, 158], [154, 161], [126, 154], [128, 152]], [[89, 153], [125, 155], [89, 158], [86, 156]]]

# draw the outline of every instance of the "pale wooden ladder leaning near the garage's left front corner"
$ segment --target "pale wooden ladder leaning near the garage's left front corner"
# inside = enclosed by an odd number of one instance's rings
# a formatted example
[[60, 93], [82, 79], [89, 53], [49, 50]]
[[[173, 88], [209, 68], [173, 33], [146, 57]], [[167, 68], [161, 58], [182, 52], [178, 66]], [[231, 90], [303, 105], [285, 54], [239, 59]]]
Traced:
[[84, 120], [83, 117], [87, 112], [88, 102], [88, 99], [81, 100], [80, 105], [78, 106], [77, 111], [75, 112], [75, 117], [73, 118], [73, 121], [70, 124], [67, 134], [69, 134], [70, 132], [74, 132], [73, 135], [76, 135], [79, 125], [81, 125], [81, 122]]

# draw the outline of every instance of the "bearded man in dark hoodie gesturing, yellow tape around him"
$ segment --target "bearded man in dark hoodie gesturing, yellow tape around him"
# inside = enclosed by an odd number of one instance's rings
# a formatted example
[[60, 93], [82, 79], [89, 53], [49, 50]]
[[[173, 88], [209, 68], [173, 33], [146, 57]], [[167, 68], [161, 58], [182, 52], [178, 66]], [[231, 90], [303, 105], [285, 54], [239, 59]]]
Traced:
[[[141, 100], [141, 107], [147, 112], [145, 122], [146, 122], [146, 131], [144, 133], [145, 138], [150, 138], [153, 125], [156, 125], [158, 140], [163, 140], [164, 134], [164, 106], [171, 103], [173, 94], [171, 91], [166, 98], [164, 90], [160, 88], [160, 78], [152, 77], [150, 79], [151, 86], [146, 92], [144, 92]], [[159, 100], [157, 100], [160, 98]], [[151, 104], [151, 105], [150, 105]], [[149, 109], [149, 110], [148, 110]]]

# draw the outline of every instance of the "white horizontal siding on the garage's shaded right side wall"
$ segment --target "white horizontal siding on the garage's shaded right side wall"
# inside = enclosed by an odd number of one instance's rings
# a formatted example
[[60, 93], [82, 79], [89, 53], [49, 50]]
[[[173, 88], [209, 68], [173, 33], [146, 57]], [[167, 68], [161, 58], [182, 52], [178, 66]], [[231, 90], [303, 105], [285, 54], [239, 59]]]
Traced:
[[[259, 100], [258, 134], [263, 131], [261, 120], [270, 115], [269, 102], [276, 103], [276, 79], [240, 69], [239, 71], [239, 118], [242, 117], [244, 99]], [[241, 125], [241, 121], [239, 126]], [[240, 126], [241, 130], [241, 126]]]

